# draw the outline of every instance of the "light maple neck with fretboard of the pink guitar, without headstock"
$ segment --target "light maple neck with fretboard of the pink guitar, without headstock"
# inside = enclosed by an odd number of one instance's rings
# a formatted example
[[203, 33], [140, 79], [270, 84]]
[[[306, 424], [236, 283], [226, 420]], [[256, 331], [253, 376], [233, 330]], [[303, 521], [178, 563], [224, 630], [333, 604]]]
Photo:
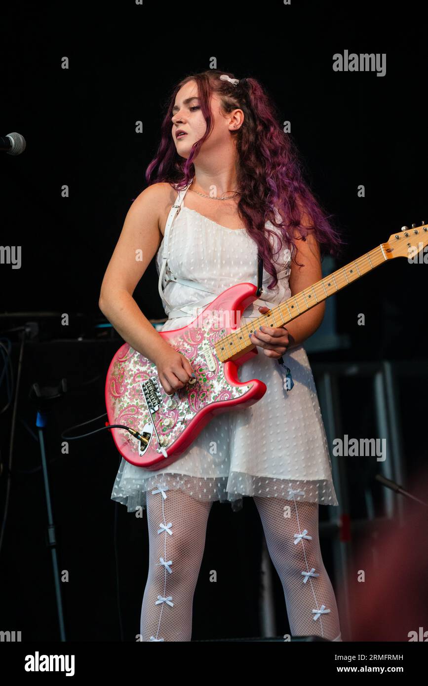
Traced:
[[325, 276], [321, 281], [303, 289], [292, 298], [284, 300], [283, 303], [273, 307], [267, 314], [252, 319], [248, 324], [244, 324], [240, 329], [229, 333], [216, 342], [215, 352], [219, 360], [227, 362], [230, 359], [237, 359], [241, 355], [245, 355], [251, 348], [254, 348], [254, 343], [250, 339], [254, 330], [261, 326], [276, 327], [277, 329], [285, 327], [288, 322], [337, 293], [349, 283], [357, 281], [360, 276], [371, 272], [387, 259], [383, 246], [377, 246], [336, 272]]

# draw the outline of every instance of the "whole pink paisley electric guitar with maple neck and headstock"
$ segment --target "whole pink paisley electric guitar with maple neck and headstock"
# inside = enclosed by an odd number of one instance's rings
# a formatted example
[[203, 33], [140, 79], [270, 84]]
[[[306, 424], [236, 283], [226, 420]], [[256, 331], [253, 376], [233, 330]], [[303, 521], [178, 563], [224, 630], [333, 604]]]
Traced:
[[[241, 383], [237, 376], [238, 367], [258, 354], [250, 333], [261, 325], [286, 327], [288, 322], [388, 259], [413, 259], [427, 245], [427, 233], [428, 226], [423, 224], [390, 236], [387, 243], [239, 329], [234, 316], [242, 314], [257, 299], [257, 286], [252, 283], [228, 288], [186, 327], [159, 331], [162, 338], [187, 357], [196, 375], [174, 396], [165, 393], [156, 365], [124, 343], [113, 357], [106, 379], [108, 426], [123, 458], [146, 469], [163, 469], [191, 445], [211, 416], [257, 403], [267, 390], [265, 383], [258, 379]], [[219, 323], [219, 316], [225, 312], [233, 313], [232, 323]]]

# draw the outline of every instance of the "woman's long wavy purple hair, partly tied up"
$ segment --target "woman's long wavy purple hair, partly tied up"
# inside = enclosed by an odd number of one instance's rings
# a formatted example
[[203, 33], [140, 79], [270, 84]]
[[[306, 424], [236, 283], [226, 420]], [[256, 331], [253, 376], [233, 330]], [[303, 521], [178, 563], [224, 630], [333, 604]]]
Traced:
[[[285, 134], [279, 123], [276, 106], [261, 84], [247, 78], [234, 85], [219, 79], [220, 74], [235, 78], [230, 72], [209, 69], [187, 76], [174, 88], [168, 110], [162, 123], [162, 137], [156, 157], [145, 171], [147, 184], [169, 182], [174, 189], [181, 190], [195, 175], [192, 160], [198, 155], [201, 145], [206, 141], [213, 128], [213, 117], [209, 103], [211, 93], [221, 99], [225, 113], [234, 109], [243, 110], [245, 119], [237, 131], [237, 186], [241, 191], [237, 209], [248, 235], [254, 239], [263, 257], [263, 265], [273, 277], [269, 288], [278, 283], [276, 268], [272, 262], [272, 245], [265, 227], [270, 220], [281, 229], [282, 244], [292, 250], [295, 259], [296, 240], [306, 240], [313, 231], [322, 254], [339, 255], [344, 244], [337, 228], [329, 221], [333, 215], [326, 215], [320, 202], [303, 180], [302, 162], [290, 134]], [[171, 136], [172, 108], [180, 88], [189, 81], [195, 81], [204, 119], [206, 132], [193, 144], [189, 158], [178, 156]], [[156, 171], [155, 171], [156, 170]], [[274, 208], [282, 221], [277, 221]], [[276, 255], [277, 253], [275, 253]], [[298, 265], [300, 263], [296, 262]]]

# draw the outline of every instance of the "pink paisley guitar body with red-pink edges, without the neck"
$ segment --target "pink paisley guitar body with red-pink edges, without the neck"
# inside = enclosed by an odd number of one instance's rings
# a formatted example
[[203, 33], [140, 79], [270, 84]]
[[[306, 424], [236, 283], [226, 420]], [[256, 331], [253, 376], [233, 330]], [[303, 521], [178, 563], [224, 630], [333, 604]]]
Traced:
[[187, 357], [196, 379], [174, 395], [163, 389], [156, 365], [128, 343], [119, 348], [108, 368], [108, 423], [139, 431], [111, 428], [123, 458], [146, 469], [163, 469], [191, 445], [212, 416], [256, 403], [266, 392], [263, 381], [241, 383], [237, 370], [258, 354], [257, 347], [235, 361], [220, 362], [214, 344], [239, 329], [237, 317], [257, 299], [257, 287], [239, 283], [217, 296], [193, 322], [181, 329], [159, 331], [171, 347]]

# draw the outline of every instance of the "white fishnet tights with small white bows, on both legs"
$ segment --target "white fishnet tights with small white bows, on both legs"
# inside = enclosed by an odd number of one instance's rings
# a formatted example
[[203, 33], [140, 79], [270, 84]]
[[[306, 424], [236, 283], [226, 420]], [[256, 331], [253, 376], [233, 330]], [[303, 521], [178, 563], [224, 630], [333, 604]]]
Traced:
[[[318, 504], [261, 497], [254, 502], [283, 584], [292, 635], [340, 641], [335, 595], [320, 552]], [[191, 641], [193, 595], [212, 504], [166, 485], [147, 491], [149, 572], [141, 641]]]

